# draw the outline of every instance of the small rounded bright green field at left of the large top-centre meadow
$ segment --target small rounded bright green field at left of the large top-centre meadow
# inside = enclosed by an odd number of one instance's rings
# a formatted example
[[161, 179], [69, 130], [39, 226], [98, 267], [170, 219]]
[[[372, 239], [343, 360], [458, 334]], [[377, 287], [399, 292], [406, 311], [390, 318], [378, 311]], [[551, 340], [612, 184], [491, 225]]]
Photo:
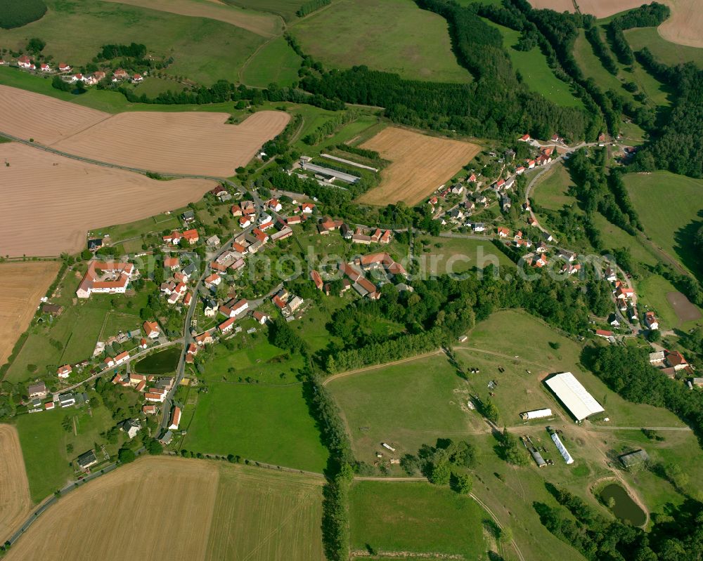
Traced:
[[302, 59], [283, 37], [262, 46], [240, 70], [241, 81], [254, 88], [266, 88], [272, 82], [291, 86], [298, 79]]

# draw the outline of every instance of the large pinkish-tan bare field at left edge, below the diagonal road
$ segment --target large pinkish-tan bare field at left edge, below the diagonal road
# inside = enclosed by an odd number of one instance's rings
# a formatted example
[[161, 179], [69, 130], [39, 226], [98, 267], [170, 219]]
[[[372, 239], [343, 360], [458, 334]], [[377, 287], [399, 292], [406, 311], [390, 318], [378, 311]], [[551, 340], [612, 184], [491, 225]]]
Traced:
[[0, 144], [0, 255], [55, 256], [84, 249], [86, 232], [178, 209], [214, 182], [157, 181], [138, 173]]

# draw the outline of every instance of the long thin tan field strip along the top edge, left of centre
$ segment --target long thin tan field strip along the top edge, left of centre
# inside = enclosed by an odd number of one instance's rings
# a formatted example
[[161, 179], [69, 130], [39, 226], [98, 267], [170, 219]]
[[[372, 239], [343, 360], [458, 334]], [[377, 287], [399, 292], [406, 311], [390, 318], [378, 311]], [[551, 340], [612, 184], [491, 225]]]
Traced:
[[280, 33], [278, 18], [254, 10], [209, 0], [103, 0], [116, 4], [129, 4], [150, 10], [189, 15], [193, 18], [208, 18], [230, 23], [257, 35], [273, 37]]

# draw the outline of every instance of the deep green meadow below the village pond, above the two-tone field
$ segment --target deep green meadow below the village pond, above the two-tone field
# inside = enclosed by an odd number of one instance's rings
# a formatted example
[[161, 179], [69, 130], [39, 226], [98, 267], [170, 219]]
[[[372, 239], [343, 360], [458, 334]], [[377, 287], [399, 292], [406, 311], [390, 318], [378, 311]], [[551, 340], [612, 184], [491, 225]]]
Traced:
[[[223, 375], [226, 371], [222, 371]], [[302, 384], [209, 382], [198, 397], [183, 449], [238, 454], [255, 461], [322, 472], [328, 452]]]

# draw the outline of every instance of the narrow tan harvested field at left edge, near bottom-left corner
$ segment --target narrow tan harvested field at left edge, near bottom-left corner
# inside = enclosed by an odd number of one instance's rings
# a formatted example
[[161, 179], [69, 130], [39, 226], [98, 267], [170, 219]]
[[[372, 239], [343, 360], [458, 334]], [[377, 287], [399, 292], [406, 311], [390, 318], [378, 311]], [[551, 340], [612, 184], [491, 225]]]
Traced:
[[31, 510], [30, 484], [17, 430], [0, 425], [0, 543], [20, 527]]

